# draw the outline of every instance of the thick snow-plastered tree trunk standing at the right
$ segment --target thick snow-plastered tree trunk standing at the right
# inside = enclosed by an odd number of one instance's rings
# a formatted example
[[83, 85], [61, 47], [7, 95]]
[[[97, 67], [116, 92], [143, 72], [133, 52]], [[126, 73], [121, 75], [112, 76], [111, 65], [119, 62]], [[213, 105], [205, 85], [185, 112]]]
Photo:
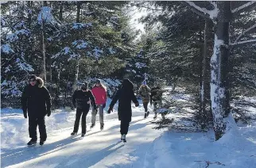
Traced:
[[211, 110], [214, 119], [215, 139], [226, 129], [223, 117], [230, 112], [228, 93], [229, 22], [231, 2], [217, 2], [219, 13], [215, 25], [214, 53], [211, 57]]

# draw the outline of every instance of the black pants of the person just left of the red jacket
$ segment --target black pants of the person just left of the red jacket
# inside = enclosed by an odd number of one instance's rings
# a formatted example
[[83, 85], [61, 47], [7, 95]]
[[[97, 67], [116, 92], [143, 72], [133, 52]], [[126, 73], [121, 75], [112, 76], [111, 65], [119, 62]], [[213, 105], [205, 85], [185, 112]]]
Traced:
[[79, 125], [80, 125], [80, 118], [82, 116], [82, 120], [81, 120], [82, 134], [86, 133], [86, 116], [87, 116], [88, 112], [89, 112], [89, 108], [88, 109], [76, 109], [76, 120], [75, 120], [73, 132], [78, 132]]

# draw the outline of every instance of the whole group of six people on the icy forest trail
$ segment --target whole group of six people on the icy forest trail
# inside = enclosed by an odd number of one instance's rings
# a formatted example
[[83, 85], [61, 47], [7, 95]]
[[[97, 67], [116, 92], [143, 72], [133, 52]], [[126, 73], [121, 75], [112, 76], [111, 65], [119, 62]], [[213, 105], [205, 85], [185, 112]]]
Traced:
[[[148, 104], [153, 104], [155, 112], [154, 118], [157, 117], [157, 105], [161, 105], [161, 90], [159, 87], [153, 87], [152, 90], [142, 82], [139, 89], [139, 94], [142, 96], [142, 102], [145, 109], [145, 118], [149, 116]], [[114, 104], [118, 101], [118, 120], [121, 121], [120, 133], [121, 140], [126, 142], [126, 134], [128, 133], [129, 124], [132, 116], [131, 101], [138, 107], [139, 103], [134, 94], [134, 84], [129, 79], [122, 81], [121, 88], [114, 94], [114, 97], [109, 105], [107, 113], [111, 113]], [[95, 86], [91, 90], [88, 88], [87, 82], [84, 82], [80, 90], [76, 90], [72, 95], [72, 104], [76, 108], [76, 120], [74, 124], [72, 136], [75, 136], [79, 130], [80, 119], [82, 134], [85, 136], [87, 131], [86, 116], [91, 107], [91, 127], [95, 127], [96, 115], [99, 113], [100, 129], [104, 128], [103, 109], [106, 107], [107, 102], [107, 87], [103, 85], [100, 79], [97, 79]], [[45, 128], [45, 116], [51, 115], [51, 96], [44, 86], [42, 78], [36, 75], [29, 77], [29, 85], [25, 86], [21, 95], [21, 105], [24, 117], [29, 116], [29, 137], [31, 138], [29, 146], [37, 143], [37, 125], [40, 132], [40, 145], [45, 143], [47, 139]]]

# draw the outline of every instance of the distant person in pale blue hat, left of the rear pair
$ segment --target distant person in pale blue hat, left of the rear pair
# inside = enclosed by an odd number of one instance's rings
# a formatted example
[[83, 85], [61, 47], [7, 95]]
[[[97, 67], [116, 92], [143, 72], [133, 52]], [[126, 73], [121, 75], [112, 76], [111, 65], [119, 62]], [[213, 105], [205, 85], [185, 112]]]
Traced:
[[150, 88], [146, 85], [146, 81], [142, 82], [142, 86], [140, 86], [139, 89], [139, 94], [142, 97], [142, 103], [145, 109], [144, 118], [146, 118], [147, 116], [149, 116], [148, 105], [150, 100]]

